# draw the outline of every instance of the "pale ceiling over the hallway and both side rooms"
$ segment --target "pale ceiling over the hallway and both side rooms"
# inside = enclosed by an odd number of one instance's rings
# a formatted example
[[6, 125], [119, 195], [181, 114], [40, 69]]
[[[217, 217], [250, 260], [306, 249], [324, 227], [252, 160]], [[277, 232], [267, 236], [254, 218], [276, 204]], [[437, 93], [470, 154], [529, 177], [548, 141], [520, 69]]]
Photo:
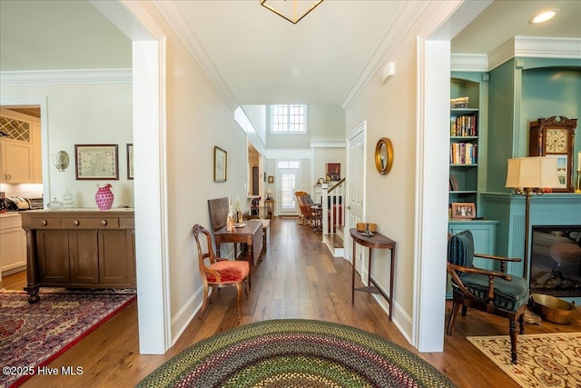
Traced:
[[[425, 4], [325, 0], [292, 25], [259, 0], [156, 2], [239, 104], [341, 104], [385, 59], [404, 15]], [[560, 13], [547, 25], [528, 25], [547, 8]], [[88, 1], [2, 0], [0, 17], [3, 72], [131, 67], [131, 42]], [[581, 38], [580, 21], [581, 1], [496, 0], [452, 40], [452, 53], [487, 54], [515, 35]]]

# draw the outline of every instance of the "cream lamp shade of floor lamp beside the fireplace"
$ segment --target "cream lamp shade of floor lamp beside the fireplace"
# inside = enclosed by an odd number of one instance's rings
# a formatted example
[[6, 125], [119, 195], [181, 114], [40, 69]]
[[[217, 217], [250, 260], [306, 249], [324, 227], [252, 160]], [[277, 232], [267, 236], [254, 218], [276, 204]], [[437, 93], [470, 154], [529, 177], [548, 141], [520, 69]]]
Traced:
[[508, 159], [507, 184], [512, 188], [560, 187], [556, 157], [532, 156]]

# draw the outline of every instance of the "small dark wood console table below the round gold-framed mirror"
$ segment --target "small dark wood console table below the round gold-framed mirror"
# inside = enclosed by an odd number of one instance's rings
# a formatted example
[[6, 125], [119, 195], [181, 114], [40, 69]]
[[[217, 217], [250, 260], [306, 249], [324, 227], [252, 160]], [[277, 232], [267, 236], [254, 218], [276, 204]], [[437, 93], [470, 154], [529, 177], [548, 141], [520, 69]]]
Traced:
[[[396, 264], [396, 242], [383, 234], [374, 233], [371, 236], [361, 234], [356, 228], [350, 229], [351, 238], [353, 239], [353, 256], [352, 256], [352, 270], [351, 270], [351, 304], [355, 303], [355, 292], [364, 291], [366, 293], [381, 293], [389, 303], [389, 321], [393, 317], [393, 277]], [[355, 288], [355, 253], [357, 244], [367, 246], [369, 248], [369, 267], [368, 267], [368, 284], [372, 286]], [[391, 269], [389, 273], [389, 295], [381, 291], [378, 284], [371, 278], [371, 262], [373, 259], [373, 248], [389, 249], [391, 251]]]

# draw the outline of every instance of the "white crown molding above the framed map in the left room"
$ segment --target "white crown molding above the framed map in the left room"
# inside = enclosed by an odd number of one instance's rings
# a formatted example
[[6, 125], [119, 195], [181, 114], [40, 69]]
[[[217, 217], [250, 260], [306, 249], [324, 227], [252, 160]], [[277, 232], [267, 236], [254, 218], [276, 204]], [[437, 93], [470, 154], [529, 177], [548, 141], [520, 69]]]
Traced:
[[131, 84], [132, 69], [75, 69], [0, 72], [3, 86]]

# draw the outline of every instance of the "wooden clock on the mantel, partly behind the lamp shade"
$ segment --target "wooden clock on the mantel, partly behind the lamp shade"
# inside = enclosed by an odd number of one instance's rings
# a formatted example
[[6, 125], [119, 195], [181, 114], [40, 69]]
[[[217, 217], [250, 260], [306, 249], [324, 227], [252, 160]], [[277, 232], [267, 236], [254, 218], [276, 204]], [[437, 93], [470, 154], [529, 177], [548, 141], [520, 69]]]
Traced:
[[573, 147], [576, 119], [565, 116], [539, 118], [529, 124], [529, 156], [557, 158], [557, 177], [561, 186], [554, 192], [573, 192]]

